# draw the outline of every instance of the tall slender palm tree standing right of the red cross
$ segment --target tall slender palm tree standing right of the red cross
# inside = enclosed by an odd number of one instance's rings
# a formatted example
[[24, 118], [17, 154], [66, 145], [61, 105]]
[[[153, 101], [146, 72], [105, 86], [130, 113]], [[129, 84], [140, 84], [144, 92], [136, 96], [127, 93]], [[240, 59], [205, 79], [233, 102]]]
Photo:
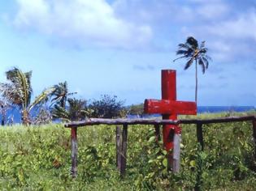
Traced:
[[201, 45], [198, 46], [198, 42], [193, 36], [189, 36], [186, 42], [178, 45], [177, 55], [182, 55], [181, 57], [176, 58], [173, 62], [180, 58], [186, 58], [187, 62], [184, 66], [184, 70], [187, 70], [189, 66], [195, 62], [196, 66], [196, 88], [195, 88], [195, 101], [197, 103], [197, 63], [202, 66], [202, 74], [206, 72], [206, 69], [209, 66], [208, 60], [211, 60], [209, 56], [206, 55], [208, 49], [205, 47], [205, 41], [202, 41]]

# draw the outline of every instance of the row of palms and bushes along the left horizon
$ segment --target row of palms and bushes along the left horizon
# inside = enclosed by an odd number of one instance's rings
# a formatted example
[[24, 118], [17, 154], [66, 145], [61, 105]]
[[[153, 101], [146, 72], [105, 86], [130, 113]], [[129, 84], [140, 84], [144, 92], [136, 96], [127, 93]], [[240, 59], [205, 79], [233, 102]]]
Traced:
[[[99, 100], [77, 99], [69, 92], [67, 82], [48, 87], [32, 100], [32, 71], [13, 68], [6, 72], [7, 83], [0, 83], [1, 124], [7, 121], [7, 110], [18, 108], [24, 125], [48, 123], [52, 120], [80, 121], [86, 117], [126, 117], [128, 108], [117, 96], [103, 95]], [[132, 106], [133, 110], [136, 110]], [[32, 116], [34, 111], [36, 116]], [[13, 119], [12, 119], [13, 120]]]

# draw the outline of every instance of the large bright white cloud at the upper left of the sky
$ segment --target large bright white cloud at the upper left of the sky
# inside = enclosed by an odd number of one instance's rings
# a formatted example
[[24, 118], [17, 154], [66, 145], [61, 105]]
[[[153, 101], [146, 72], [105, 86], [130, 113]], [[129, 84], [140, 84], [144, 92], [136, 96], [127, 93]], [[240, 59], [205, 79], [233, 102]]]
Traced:
[[147, 44], [150, 26], [131, 23], [115, 15], [105, 0], [16, 0], [19, 11], [15, 26], [33, 28], [49, 35], [132, 49]]

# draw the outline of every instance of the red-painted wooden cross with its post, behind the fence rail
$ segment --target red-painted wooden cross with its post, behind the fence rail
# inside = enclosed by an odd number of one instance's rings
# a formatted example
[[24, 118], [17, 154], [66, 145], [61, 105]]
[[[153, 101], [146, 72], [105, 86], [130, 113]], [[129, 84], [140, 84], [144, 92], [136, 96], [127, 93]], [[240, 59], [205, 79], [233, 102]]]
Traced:
[[[176, 120], [178, 114], [196, 115], [197, 104], [177, 101], [176, 70], [162, 70], [162, 100], [145, 100], [144, 110], [145, 113], [160, 113], [163, 119]], [[180, 134], [179, 125], [163, 125], [163, 146], [167, 151], [173, 149], [173, 155], [168, 157], [168, 166], [174, 172], [179, 171]]]

